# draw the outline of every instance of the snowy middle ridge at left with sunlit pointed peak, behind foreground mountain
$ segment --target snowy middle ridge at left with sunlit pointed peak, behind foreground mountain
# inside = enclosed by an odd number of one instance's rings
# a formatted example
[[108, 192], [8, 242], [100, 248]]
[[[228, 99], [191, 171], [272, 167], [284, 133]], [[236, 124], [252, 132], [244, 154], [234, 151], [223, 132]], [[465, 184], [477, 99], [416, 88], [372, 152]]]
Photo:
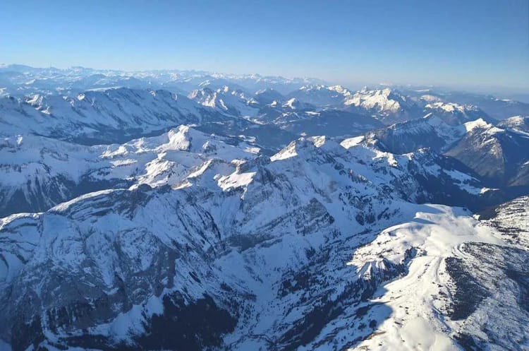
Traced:
[[174, 185], [207, 162], [253, 158], [260, 149], [179, 126], [122, 145], [85, 146], [42, 136], [0, 144], [0, 217], [40, 212], [76, 196], [133, 184]]

